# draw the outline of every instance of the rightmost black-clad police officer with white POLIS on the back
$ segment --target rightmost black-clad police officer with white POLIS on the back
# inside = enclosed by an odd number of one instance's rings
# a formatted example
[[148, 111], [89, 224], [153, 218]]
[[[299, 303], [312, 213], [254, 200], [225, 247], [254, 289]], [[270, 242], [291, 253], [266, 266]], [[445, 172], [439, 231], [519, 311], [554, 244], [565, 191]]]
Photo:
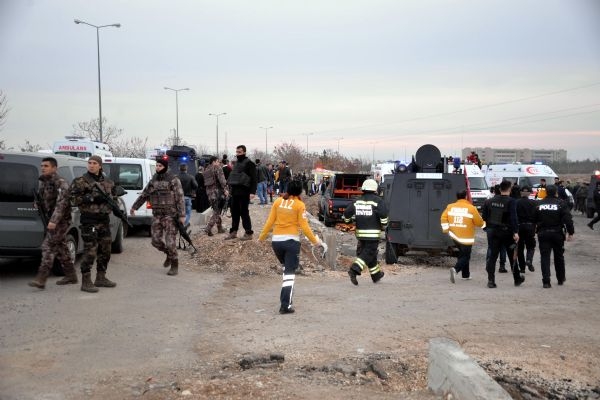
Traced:
[[565, 277], [565, 229], [566, 240], [570, 241], [575, 233], [573, 218], [567, 204], [557, 197], [557, 188], [549, 185], [546, 198], [542, 200], [535, 212], [535, 223], [540, 243], [542, 264], [542, 284], [545, 289], [550, 284], [550, 253], [554, 252], [554, 268], [559, 285], [566, 281]]

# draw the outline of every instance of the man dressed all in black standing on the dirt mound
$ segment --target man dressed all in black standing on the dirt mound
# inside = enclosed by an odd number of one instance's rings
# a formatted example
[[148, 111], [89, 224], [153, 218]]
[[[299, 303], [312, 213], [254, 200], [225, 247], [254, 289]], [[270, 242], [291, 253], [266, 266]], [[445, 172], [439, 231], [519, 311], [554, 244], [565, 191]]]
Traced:
[[227, 179], [227, 184], [231, 187], [231, 229], [225, 240], [237, 238], [240, 218], [245, 231], [241, 240], [251, 240], [254, 231], [248, 206], [256, 194], [256, 164], [246, 157], [246, 146], [243, 144], [235, 148], [235, 155], [236, 162]]

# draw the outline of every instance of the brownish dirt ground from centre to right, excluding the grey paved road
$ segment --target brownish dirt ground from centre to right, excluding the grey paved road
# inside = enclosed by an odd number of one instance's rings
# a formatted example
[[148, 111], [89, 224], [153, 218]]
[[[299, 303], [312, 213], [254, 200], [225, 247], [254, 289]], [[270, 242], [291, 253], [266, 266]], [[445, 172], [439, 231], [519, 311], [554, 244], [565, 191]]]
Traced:
[[[315, 216], [317, 200], [305, 199]], [[251, 205], [255, 236], [268, 212]], [[600, 398], [599, 233], [574, 218], [568, 282], [550, 290], [541, 289], [539, 254], [523, 287], [499, 274], [499, 288], [485, 288], [482, 232], [472, 257], [475, 277], [456, 285], [448, 280], [453, 259], [410, 256], [395, 265], [382, 261], [381, 283], [362, 276], [354, 287], [346, 274], [352, 233], [336, 233], [335, 268], [316, 259], [304, 239], [292, 315], [277, 313], [281, 270], [269, 241], [197, 234], [199, 252], [182, 257], [183, 270], [225, 275], [201, 310], [209, 334], [195, 346], [197, 361], [114, 374], [90, 398], [434, 399], [427, 345], [436, 336], [458, 341], [515, 399]], [[316, 218], [311, 225], [320, 235], [332, 229]]]

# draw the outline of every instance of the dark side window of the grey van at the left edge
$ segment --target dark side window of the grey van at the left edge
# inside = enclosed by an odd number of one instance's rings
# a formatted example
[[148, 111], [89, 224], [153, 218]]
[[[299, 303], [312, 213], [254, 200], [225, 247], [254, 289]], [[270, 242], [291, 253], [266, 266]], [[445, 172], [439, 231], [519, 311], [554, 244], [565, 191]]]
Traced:
[[33, 165], [0, 163], [0, 202], [33, 202], [38, 177]]

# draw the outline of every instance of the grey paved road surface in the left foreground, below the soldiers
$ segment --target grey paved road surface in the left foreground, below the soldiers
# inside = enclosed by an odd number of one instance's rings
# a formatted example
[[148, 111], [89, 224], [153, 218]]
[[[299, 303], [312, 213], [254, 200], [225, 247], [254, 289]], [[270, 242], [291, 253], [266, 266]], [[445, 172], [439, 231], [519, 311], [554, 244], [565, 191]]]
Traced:
[[219, 276], [169, 277], [147, 236], [125, 245], [107, 275], [117, 288], [97, 294], [57, 286], [55, 277], [39, 291], [27, 286], [35, 264], [0, 262], [2, 400], [68, 398], [113, 370], [193, 358], [194, 337], [203, 331], [199, 305], [220, 286]]

